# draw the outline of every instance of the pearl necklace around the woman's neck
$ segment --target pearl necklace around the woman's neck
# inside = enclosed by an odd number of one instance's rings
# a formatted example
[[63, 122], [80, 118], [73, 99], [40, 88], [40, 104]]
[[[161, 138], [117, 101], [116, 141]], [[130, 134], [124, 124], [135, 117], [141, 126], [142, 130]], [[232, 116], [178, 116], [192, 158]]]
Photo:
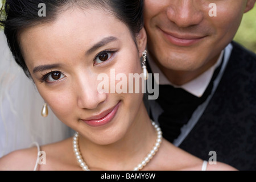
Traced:
[[[133, 171], [138, 171], [141, 170], [144, 166], [146, 166], [146, 164], [148, 162], [150, 162], [150, 159], [153, 158], [153, 156], [155, 155], [156, 151], [158, 151], [158, 148], [160, 147], [160, 144], [162, 143], [162, 131], [160, 129], [160, 127], [158, 125], [156, 125], [155, 122], [152, 122], [152, 125], [155, 127], [156, 130], [156, 142], [154, 144], [154, 147], [152, 148], [152, 150], [147, 154], [147, 156], [144, 158], [144, 160], [142, 160], [141, 163], [139, 163], [134, 169]], [[86, 163], [84, 162], [84, 159], [82, 159], [80, 150], [79, 150], [79, 133], [75, 133], [74, 137], [73, 137], [73, 151], [75, 152], [76, 155], [76, 159], [77, 162], [80, 164], [80, 167], [84, 170], [84, 171], [90, 171], [89, 167], [86, 165]]]

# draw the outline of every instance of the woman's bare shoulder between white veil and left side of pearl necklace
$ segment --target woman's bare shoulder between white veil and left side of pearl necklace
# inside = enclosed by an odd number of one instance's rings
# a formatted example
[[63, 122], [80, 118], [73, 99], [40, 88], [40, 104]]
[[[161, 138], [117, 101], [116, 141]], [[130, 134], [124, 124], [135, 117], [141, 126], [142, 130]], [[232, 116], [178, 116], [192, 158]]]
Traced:
[[[10, 154], [0, 158], [0, 171], [32, 171], [34, 170], [35, 166], [38, 166], [36, 170], [55, 170], [63, 169], [64, 166], [68, 166], [68, 164], [69, 166], [72, 166], [72, 164], [77, 164], [76, 160], [73, 160], [75, 159], [75, 155], [72, 155], [72, 138], [40, 146], [39, 150], [39, 163], [37, 163], [37, 147], [10, 152]], [[63, 158], [63, 156], [65, 156], [65, 158]], [[45, 163], [43, 163], [42, 160], [44, 160]], [[71, 162], [69, 162], [69, 160]]]

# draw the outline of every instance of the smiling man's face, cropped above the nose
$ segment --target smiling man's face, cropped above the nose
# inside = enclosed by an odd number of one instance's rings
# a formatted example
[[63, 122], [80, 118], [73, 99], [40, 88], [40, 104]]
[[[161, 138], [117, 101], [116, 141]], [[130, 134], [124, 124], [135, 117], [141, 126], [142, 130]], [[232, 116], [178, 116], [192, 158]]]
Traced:
[[217, 60], [256, 0], [145, 0], [148, 51], [160, 65], [195, 71]]

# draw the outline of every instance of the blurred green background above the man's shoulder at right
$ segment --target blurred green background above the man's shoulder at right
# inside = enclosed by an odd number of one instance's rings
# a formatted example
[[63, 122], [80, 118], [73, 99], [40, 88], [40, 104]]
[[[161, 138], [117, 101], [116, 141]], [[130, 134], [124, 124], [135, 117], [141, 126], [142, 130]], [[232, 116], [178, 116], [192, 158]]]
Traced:
[[[2, 1], [5, 0], [0, 0], [0, 7], [2, 7]], [[0, 26], [0, 31], [1, 29], [3, 28]], [[256, 53], [256, 5], [243, 15], [241, 26], [234, 40]]]

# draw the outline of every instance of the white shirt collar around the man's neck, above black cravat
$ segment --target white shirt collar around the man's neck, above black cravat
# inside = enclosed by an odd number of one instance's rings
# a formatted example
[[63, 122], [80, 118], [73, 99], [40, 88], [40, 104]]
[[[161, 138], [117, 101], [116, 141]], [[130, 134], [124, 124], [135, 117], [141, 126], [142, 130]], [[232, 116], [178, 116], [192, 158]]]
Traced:
[[[230, 47], [232, 46], [231, 44], [229, 44], [229, 46], [227, 46], [225, 48], [225, 52], [227, 55], [230, 55]], [[217, 62], [210, 67], [207, 71], [205, 71], [203, 74], [201, 74], [200, 76], [196, 77], [195, 79], [187, 82], [184, 85], [174, 85], [172, 84], [167, 78], [166, 76], [164, 76], [164, 74], [162, 73], [162, 71], [160, 71], [160, 68], [155, 64], [155, 62], [150, 58], [150, 56], [148, 56], [148, 64], [150, 65], [150, 68], [152, 70], [152, 73], [159, 73], [159, 82], [158, 80], [155, 80], [157, 84], [159, 85], [172, 85], [175, 88], [182, 88], [184, 90], [186, 90], [187, 92], [193, 94], [194, 96], [197, 97], [201, 97], [203, 96], [205, 90], [207, 89], [207, 86], [209, 85], [209, 82], [213, 76], [213, 73], [215, 71], [215, 69], [218, 67], [218, 65], [221, 64], [221, 60], [224, 56], [224, 50], [221, 51], [221, 55], [220, 57], [218, 57]], [[229, 59], [229, 57], [226, 57], [224, 59]]]

